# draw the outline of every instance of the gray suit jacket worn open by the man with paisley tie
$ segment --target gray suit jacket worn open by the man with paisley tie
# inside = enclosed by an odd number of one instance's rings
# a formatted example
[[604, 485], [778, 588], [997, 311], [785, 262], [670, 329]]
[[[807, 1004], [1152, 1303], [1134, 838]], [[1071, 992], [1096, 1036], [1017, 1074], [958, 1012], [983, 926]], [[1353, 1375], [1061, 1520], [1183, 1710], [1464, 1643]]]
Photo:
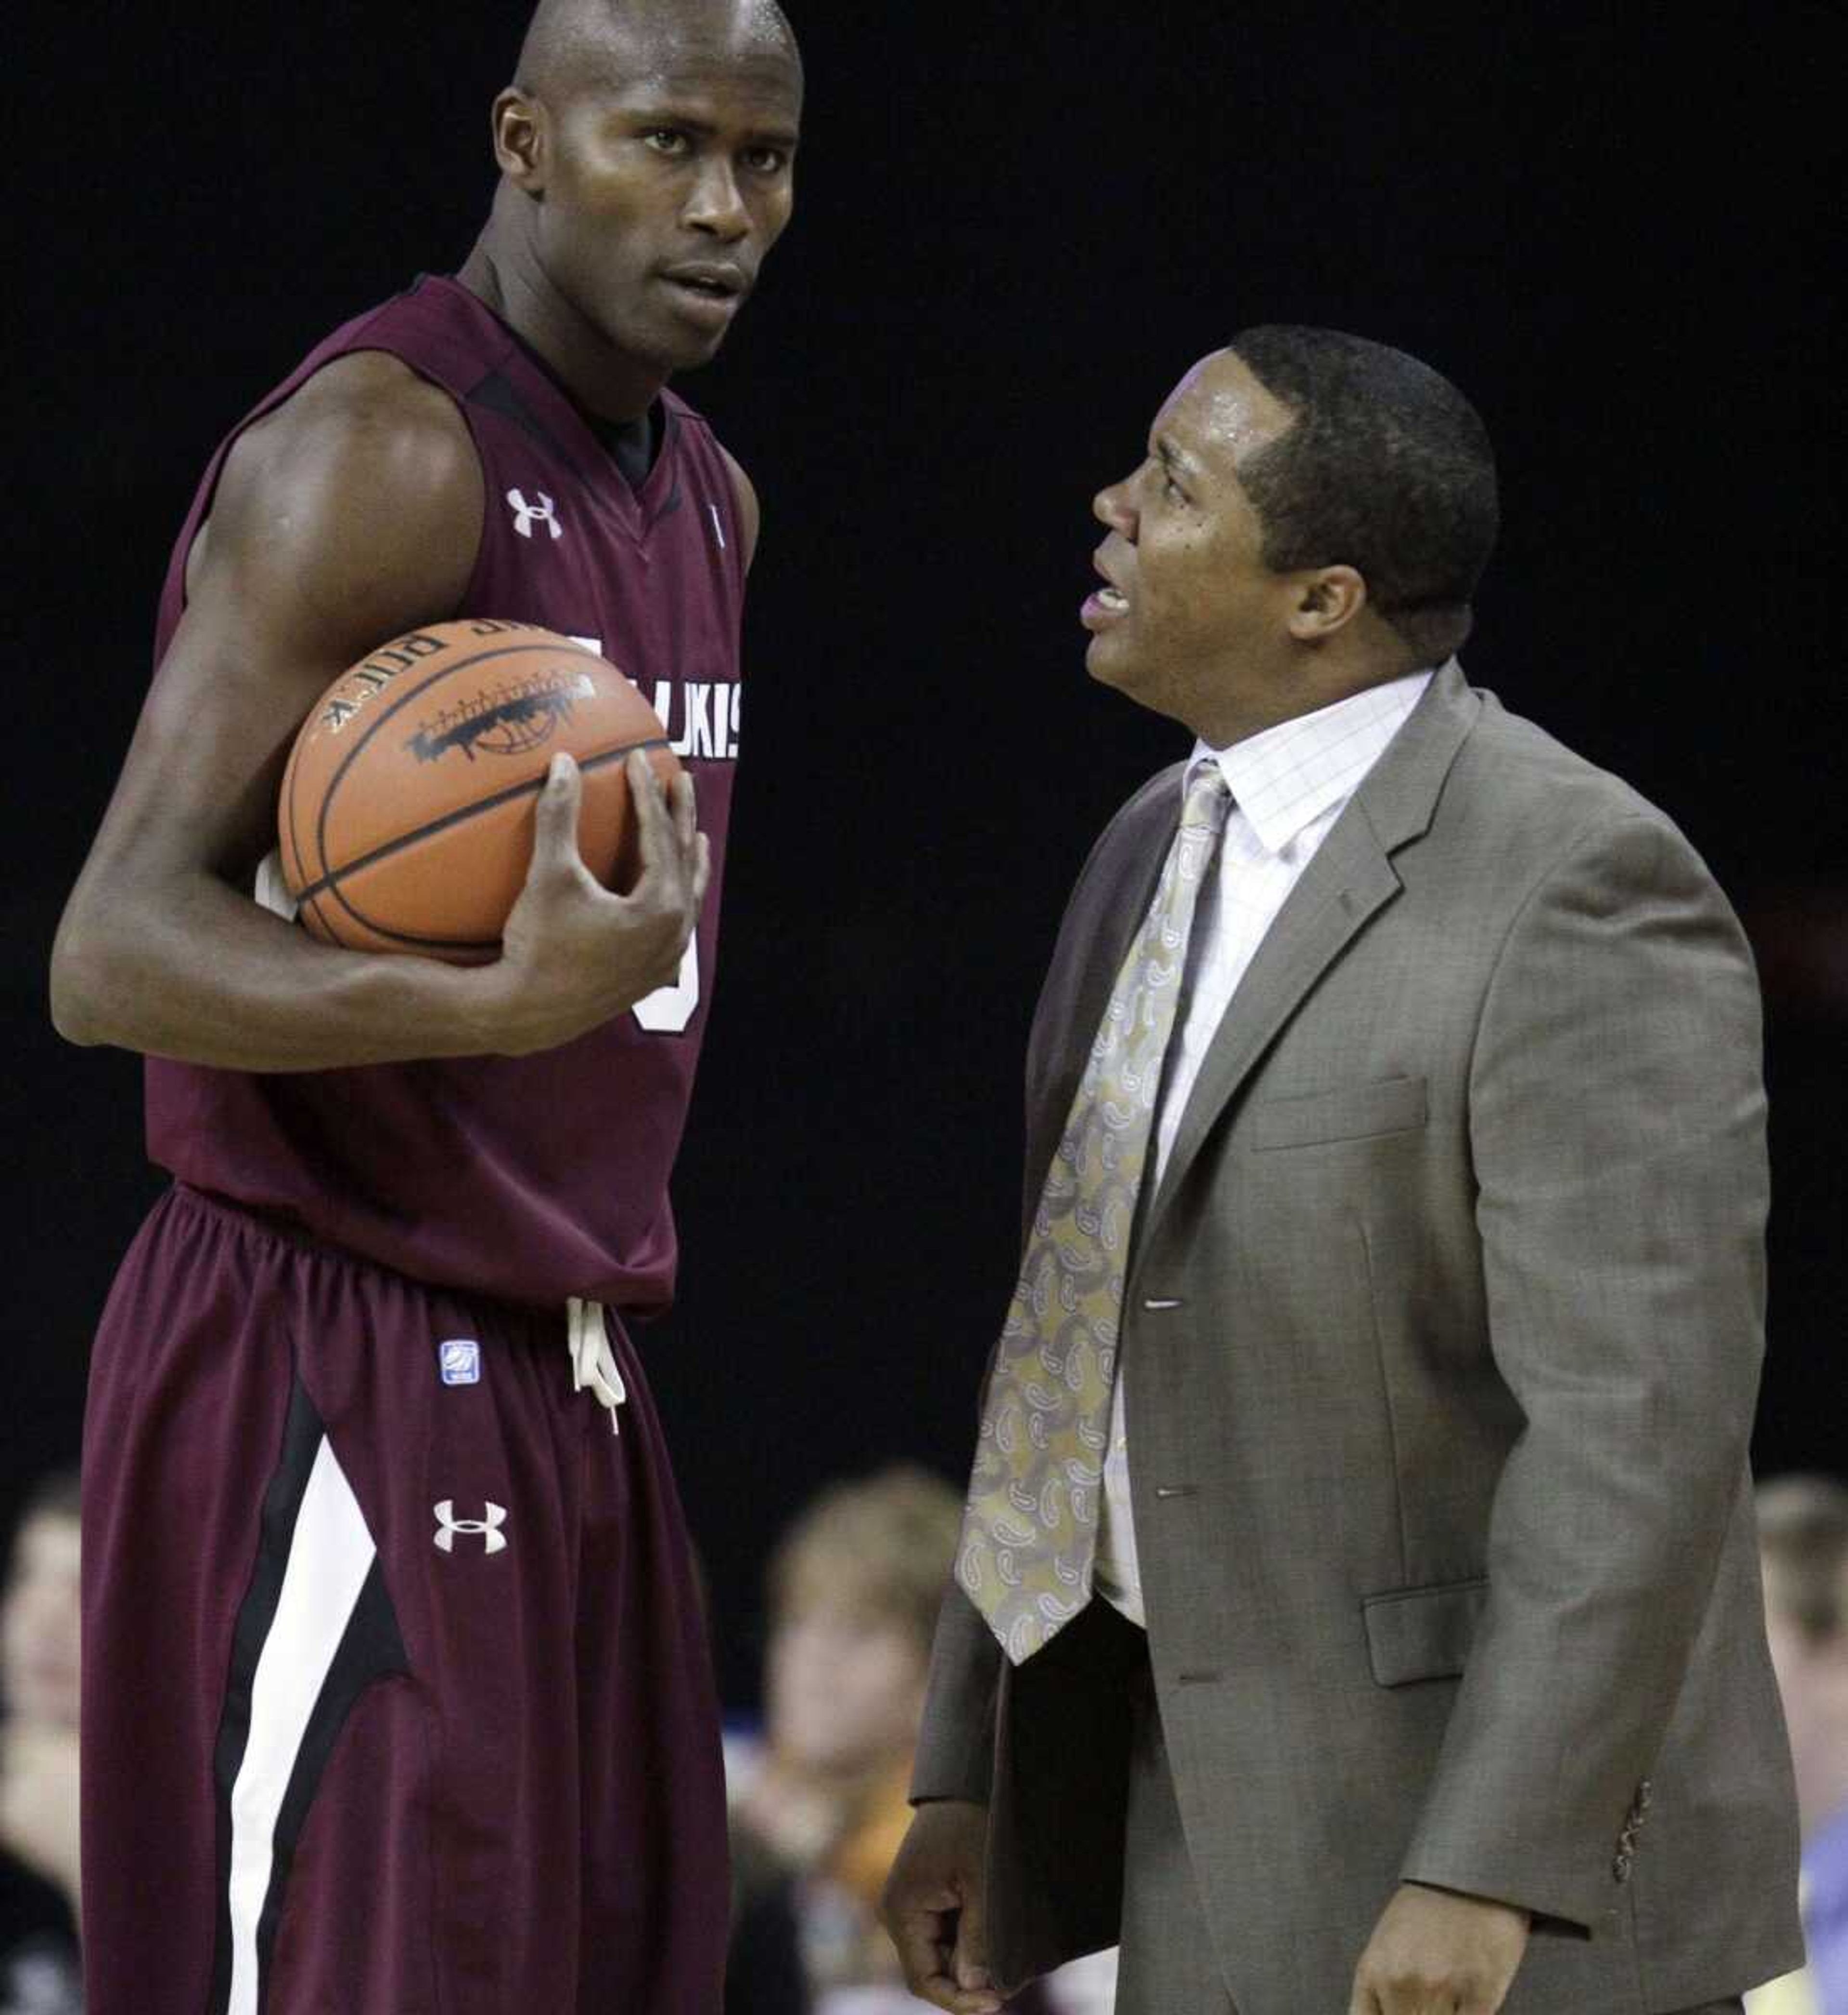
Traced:
[[[1179, 816], [1066, 913], [1028, 1211]], [[1636, 2015], [1802, 1959], [1747, 1477], [1751, 959], [1675, 826], [1455, 665], [1292, 891], [1129, 1273], [1149, 1652], [1239, 2015], [1332, 2015], [1401, 1878], [1540, 1930], [1507, 2003]], [[989, 1801], [1016, 1985], [1112, 1942], [1125, 1707], [951, 1586], [915, 1777]]]

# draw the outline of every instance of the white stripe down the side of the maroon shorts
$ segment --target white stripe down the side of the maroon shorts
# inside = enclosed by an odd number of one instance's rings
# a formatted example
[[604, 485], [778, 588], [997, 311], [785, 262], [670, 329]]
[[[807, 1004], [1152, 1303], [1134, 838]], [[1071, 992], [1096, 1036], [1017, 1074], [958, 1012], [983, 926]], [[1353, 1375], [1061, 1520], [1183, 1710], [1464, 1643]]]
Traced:
[[333, 1443], [322, 1437], [296, 1513], [276, 1620], [256, 1660], [250, 1741], [232, 1785], [232, 1999], [228, 2015], [256, 2015], [256, 1932], [270, 1894], [276, 1820], [308, 1719], [353, 1606], [373, 1570], [373, 1535]]

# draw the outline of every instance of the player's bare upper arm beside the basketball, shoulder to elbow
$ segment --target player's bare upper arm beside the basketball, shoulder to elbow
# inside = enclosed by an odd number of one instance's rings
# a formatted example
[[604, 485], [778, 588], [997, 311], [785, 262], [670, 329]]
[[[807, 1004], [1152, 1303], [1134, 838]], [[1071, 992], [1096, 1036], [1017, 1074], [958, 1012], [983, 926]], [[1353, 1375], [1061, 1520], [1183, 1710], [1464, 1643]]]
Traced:
[[143, 893], [200, 868], [246, 881], [320, 691], [387, 637], [451, 615], [468, 586], [482, 480], [459, 419], [316, 405], [240, 441], [214, 498], [91, 856]]

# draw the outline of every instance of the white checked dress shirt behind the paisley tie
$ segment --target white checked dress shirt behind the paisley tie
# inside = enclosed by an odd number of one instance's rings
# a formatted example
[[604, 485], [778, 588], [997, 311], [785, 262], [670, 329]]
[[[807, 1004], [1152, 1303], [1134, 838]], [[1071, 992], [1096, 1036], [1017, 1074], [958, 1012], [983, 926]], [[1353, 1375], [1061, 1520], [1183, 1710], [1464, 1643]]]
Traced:
[[[1264, 943], [1298, 875], [1314, 860], [1366, 772], [1387, 752], [1431, 683], [1415, 671], [1372, 685], [1318, 713], [1280, 721], [1229, 750], [1195, 744], [1181, 780], [1185, 792], [1201, 764], [1217, 762], [1231, 790], [1217, 872], [1201, 891], [1187, 945], [1187, 997], [1169, 1040], [1155, 1145], [1143, 1181], [1155, 1185], [1181, 1128], [1207, 1048], [1239, 979]], [[1137, 1529], [1129, 1501], [1129, 1425], [1123, 1378], [1110, 1400], [1110, 1451], [1098, 1507], [1096, 1592], [1131, 1622], [1143, 1622]]]

